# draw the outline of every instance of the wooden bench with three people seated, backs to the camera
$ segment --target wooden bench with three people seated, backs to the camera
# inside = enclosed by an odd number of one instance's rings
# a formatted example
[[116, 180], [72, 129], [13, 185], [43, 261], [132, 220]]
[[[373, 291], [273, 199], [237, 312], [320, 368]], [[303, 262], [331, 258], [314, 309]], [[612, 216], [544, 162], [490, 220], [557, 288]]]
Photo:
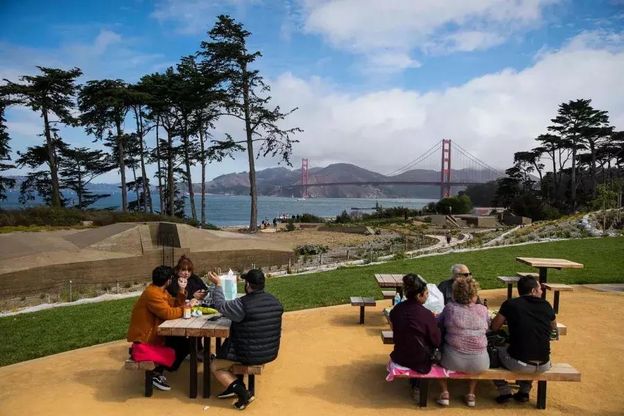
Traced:
[[[399, 378], [412, 378], [408, 375], [397, 375]], [[420, 407], [427, 406], [428, 382], [430, 377], [415, 377], [420, 379]], [[553, 367], [543, 373], [521, 374], [506, 368], [490, 368], [479, 374], [464, 374], [449, 377], [451, 380], [535, 380], [537, 381], [537, 408], [546, 409], [546, 382], [547, 381], [580, 381], [580, 372], [569, 364], [553, 363]]]

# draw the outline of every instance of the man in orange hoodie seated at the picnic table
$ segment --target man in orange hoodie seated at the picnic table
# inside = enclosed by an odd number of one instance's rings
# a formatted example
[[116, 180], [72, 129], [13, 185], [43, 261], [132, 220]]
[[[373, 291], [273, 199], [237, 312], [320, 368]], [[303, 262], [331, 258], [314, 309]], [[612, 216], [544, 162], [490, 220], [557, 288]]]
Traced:
[[[158, 365], [154, 369], [153, 384], [160, 390], [171, 390], [166, 383], [164, 370], [176, 371], [184, 358], [189, 355], [189, 340], [183, 336], [162, 337], [157, 334], [158, 325], [171, 319], [182, 318], [184, 302], [187, 300], [187, 279], [180, 277], [177, 285], [180, 290], [177, 297], [172, 297], [166, 291], [173, 279], [173, 269], [168, 266], [159, 266], [152, 272], [152, 284], [145, 288], [130, 317], [130, 327], [125, 339], [133, 344], [166, 345], [175, 351], [175, 361], [171, 367]], [[191, 299], [191, 306], [198, 301]], [[132, 347], [130, 347], [132, 349]]]

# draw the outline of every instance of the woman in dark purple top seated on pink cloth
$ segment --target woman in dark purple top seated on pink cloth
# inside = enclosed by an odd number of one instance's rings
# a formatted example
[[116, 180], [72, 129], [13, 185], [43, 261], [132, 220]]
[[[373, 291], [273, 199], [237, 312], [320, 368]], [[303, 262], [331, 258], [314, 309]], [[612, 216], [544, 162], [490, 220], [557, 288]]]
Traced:
[[[403, 289], [406, 300], [390, 311], [395, 339], [395, 349], [390, 358], [398, 365], [426, 374], [431, 371], [428, 349], [442, 345], [442, 333], [433, 313], [422, 306], [429, 295], [426, 281], [419, 275], [405, 275]], [[417, 399], [420, 380], [410, 380], [414, 398]]]

